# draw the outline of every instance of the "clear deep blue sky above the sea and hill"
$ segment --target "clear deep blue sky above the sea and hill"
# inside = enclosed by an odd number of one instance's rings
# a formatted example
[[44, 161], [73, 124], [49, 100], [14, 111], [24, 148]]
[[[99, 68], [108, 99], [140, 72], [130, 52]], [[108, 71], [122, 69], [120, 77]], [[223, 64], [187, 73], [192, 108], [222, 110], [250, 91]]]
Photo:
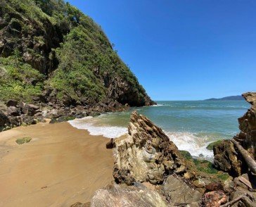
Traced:
[[115, 44], [153, 100], [256, 91], [254, 0], [70, 0]]

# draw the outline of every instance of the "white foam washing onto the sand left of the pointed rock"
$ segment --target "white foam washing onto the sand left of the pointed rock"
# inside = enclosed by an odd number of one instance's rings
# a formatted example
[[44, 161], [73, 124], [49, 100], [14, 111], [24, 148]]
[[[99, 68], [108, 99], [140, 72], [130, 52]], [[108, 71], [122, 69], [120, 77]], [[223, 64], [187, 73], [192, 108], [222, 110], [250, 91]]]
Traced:
[[97, 126], [93, 119], [93, 117], [87, 116], [85, 118], [70, 120], [68, 123], [79, 130], [88, 130], [91, 135], [102, 135], [107, 138], [120, 137], [128, 132], [127, 127]]

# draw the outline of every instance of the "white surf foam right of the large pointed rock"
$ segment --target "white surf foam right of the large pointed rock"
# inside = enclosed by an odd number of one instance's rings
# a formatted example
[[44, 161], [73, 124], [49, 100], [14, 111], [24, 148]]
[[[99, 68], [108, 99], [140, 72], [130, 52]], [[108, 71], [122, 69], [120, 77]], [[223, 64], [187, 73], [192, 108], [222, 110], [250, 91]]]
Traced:
[[195, 134], [189, 132], [165, 132], [165, 134], [177, 145], [179, 150], [186, 150], [191, 153], [191, 156], [212, 160], [213, 151], [206, 149], [209, 144], [206, 138], [196, 137]]

